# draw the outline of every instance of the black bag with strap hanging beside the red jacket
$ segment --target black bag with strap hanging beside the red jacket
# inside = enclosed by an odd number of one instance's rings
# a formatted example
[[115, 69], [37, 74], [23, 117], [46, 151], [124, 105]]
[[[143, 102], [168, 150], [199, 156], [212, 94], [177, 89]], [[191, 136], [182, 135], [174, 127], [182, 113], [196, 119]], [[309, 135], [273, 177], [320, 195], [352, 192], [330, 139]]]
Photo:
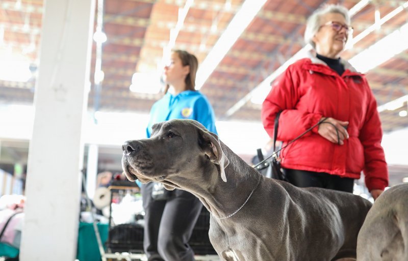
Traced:
[[[276, 137], [277, 137], [277, 128], [279, 124], [279, 115], [281, 115], [282, 111], [279, 111], [276, 114], [275, 118], [275, 124], [274, 124], [274, 133], [273, 133], [273, 153], [272, 153], [272, 159], [267, 160], [263, 162], [261, 165], [257, 166], [256, 169], [264, 176], [276, 180], [283, 180], [283, 181], [288, 181], [286, 179], [285, 173], [283, 172], [283, 169], [281, 167], [281, 162], [278, 160], [278, 155], [275, 152], [276, 147]], [[261, 149], [257, 150], [258, 153], [258, 159], [259, 162], [264, 160], [264, 155], [262, 154]]]

